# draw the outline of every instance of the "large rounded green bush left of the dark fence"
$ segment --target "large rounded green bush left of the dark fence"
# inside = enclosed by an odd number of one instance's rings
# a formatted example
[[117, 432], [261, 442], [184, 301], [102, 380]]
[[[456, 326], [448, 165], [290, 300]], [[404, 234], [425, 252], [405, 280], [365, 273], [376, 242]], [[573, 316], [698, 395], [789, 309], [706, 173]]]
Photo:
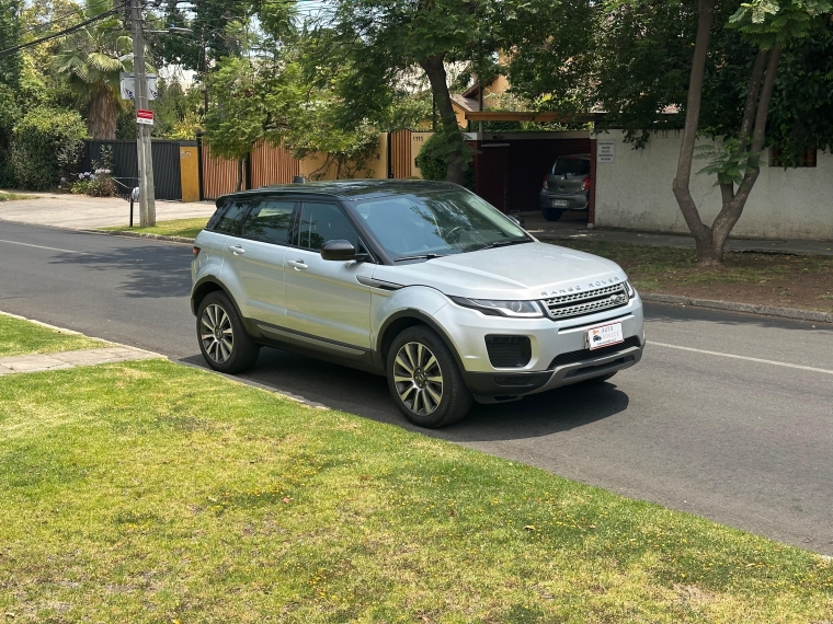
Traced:
[[[87, 126], [75, 111], [36, 108], [15, 126], [11, 160], [22, 188], [46, 190], [58, 186], [59, 154], [76, 152], [87, 136]], [[67, 166], [65, 161], [65, 166]]]

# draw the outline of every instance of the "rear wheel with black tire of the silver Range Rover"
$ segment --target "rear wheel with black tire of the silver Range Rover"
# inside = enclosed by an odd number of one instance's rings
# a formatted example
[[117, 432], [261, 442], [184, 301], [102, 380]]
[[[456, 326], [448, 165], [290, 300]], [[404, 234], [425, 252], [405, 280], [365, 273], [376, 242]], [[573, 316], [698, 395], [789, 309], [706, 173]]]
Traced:
[[209, 292], [199, 302], [196, 335], [205, 361], [214, 370], [236, 374], [250, 369], [258, 359], [258, 345], [225, 292]]

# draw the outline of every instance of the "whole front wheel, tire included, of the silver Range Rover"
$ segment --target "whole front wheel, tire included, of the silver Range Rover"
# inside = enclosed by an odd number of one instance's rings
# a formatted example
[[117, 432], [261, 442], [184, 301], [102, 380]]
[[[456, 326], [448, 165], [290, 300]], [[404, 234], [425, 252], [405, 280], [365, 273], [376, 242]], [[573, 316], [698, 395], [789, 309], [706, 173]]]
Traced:
[[429, 327], [408, 327], [393, 338], [387, 377], [393, 403], [420, 427], [445, 427], [471, 407], [471, 393], [452, 351]]

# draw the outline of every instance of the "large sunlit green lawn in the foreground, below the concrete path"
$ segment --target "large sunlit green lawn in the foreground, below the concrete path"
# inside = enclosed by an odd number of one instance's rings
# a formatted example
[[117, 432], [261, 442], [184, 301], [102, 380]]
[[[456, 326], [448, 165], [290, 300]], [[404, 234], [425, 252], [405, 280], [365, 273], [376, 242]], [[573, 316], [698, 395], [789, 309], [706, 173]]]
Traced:
[[829, 558], [160, 360], [0, 378], [0, 492], [15, 623], [833, 619]]

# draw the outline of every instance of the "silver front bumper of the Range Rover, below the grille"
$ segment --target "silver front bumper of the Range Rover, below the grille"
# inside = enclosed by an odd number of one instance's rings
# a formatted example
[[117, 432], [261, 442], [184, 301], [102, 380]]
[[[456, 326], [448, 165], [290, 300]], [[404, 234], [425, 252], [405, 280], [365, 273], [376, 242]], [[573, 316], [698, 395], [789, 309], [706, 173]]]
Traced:
[[[435, 320], [454, 343], [466, 385], [476, 395], [533, 394], [577, 383], [634, 366], [644, 347], [638, 294], [620, 308], [560, 321], [488, 316], [450, 302], [436, 312]], [[625, 343], [587, 350], [587, 330], [607, 323], [621, 323]], [[523, 367], [492, 366], [489, 335], [527, 337], [529, 361]]]

